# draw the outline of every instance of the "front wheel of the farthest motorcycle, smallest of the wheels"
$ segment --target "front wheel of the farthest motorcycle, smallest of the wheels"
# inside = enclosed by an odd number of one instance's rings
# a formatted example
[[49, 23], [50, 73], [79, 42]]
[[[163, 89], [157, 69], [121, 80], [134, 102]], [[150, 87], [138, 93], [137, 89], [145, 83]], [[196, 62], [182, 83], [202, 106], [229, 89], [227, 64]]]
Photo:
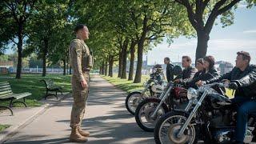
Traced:
[[142, 102], [145, 98], [142, 97], [141, 92], [132, 92], [126, 97], [126, 109], [130, 114], [135, 114], [135, 110], [138, 107], [139, 102]]

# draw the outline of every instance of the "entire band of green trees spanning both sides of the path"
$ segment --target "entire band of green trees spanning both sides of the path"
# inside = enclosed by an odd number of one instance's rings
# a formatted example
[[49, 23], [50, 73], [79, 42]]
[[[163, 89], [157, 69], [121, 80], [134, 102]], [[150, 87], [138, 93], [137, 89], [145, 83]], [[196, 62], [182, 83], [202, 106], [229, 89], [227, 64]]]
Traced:
[[[84, 23], [90, 30], [86, 44], [94, 52], [94, 68], [112, 77], [117, 64], [118, 77], [127, 78], [126, 60], [129, 58], [128, 79], [137, 83], [141, 82], [143, 54], [163, 38], [171, 43], [180, 35], [197, 36], [196, 58], [204, 57], [214, 23], [231, 25], [232, 11], [239, 1], [2, 1], [0, 46], [3, 50], [6, 43], [12, 42], [18, 47], [16, 78], [21, 77], [22, 56], [31, 53], [42, 58], [44, 69], [47, 60], [63, 61], [66, 66], [69, 63], [67, 48], [74, 38], [72, 28]], [[244, 3], [250, 7], [256, 2], [246, 0]], [[133, 78], [135, 58], [138, 64]]]

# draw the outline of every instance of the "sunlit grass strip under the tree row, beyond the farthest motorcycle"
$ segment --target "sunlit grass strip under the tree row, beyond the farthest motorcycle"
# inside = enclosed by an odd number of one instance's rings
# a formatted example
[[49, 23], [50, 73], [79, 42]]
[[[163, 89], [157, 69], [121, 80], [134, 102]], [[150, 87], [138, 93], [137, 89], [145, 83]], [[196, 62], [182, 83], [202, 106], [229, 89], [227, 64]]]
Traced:
[[142, 90], [144, 88], [143, 83], [146, 82], [146, 79], [150, 78], [150, 76], [148, 75], [142, 75], [141, 83], [133, 83], [133, 81], [118, 78], [118, 74], [114, 74], [113, 78], [104, 75], [101, 75], [101, 77], [112, 83], [114, 86], [118, 86], [118, 88], [125, 90], [128, 93], [134, 90]]

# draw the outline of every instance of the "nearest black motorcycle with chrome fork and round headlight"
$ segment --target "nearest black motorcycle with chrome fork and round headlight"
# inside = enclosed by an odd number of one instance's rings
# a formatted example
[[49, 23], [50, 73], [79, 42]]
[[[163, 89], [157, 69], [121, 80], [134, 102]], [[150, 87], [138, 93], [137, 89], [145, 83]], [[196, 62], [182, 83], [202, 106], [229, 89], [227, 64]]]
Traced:
[[[212, 83], [198, 90], [190, 88], [185, 110], [173, 110], [158, 120], [154, 140], [158, 143], [229, 143], [234, 138], [236, 104], [222, 92], [224, 83]], [[220, 94], [220, 92], [222, 92]], [[248, 118], [244, 142], [254, 138], [256, 114]], [[200, 138], [200, 139], [199, 139]]]

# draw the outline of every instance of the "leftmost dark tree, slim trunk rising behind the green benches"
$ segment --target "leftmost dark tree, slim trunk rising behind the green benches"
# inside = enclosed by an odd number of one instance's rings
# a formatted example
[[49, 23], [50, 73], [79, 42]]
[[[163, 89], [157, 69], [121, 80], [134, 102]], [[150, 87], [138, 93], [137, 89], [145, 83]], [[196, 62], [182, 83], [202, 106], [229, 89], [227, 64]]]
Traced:
[[[26, 24], [29, 21], [30, 15], [33, 14], [35, 6], [38, 1], [24, 0], [24, 1], [1, 1], [2, 16], [4, 21], [8, 22], [8, 31], [14, 32], [14, 35], [9, 35], [8, 38], [14, 42], [18, 47], [18, 64], [15, 78], [21, 78], [22, 74], [22, 46], [24, 38], [26, 37]], [[6, 33], [6, 32], [4, 32]], [[18, 42], [16, 40], [18, 39]]]

